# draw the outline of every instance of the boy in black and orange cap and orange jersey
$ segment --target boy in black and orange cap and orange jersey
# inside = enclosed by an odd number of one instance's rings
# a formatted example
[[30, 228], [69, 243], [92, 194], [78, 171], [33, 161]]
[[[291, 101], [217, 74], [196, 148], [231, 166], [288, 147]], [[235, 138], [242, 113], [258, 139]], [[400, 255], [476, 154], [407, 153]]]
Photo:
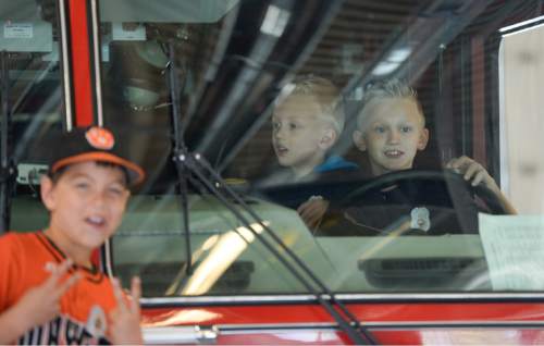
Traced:
[[91, 255], [121, 223], [144, 171], [100, 127], [63, 135], [40, 183], [49, 226], [0, 238], [0, 344], [141, 344], [140, 283], [132, 298]]

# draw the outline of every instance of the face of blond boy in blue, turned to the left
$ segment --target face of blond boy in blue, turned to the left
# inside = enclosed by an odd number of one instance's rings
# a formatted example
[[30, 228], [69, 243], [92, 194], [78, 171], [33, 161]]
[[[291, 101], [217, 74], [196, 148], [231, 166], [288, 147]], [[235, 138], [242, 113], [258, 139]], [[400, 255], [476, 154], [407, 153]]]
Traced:
[[283, 166], [304, 176], [324, 160], [334, 144], [333, 125], [320, 115], [319, 103], [310, 95], [287, 97], [274, 109], [272, 116], [272, 145]]

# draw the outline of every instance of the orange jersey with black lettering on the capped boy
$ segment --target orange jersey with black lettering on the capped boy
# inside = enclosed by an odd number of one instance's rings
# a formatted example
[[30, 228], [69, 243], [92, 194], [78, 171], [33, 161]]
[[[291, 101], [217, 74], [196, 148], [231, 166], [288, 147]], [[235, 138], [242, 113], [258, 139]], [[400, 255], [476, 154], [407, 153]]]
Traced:
[[[59, 264], [65, 255], [42, 233], [9, 233], [0, 237], [0, 313], [28, 288], [44, 283], [50, 275], [46, 264]], [[115, 308], [113, 287], [97, 269], [73, 265], [77, 281], [61, 298], [60, 316], [27, 331], [17, 342], [44, 344], [108, 344], [108, 314]]]

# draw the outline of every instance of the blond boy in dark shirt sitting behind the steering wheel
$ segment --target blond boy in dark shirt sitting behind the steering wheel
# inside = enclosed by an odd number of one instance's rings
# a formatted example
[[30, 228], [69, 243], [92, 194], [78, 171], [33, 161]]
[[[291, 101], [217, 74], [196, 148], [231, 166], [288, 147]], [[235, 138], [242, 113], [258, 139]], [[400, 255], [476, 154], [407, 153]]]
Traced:
[[[397, 79], [376, 83], [366, 90], [363, 108], [358, 115], [353, 139], [360, 151], [368, 153], [373, 176], [413, 168], [417, 153], [428, 145], [429, 129], [412, 88]], [[461, 173], [472, 185], [484, 184], [497, 196], [507, 212], [514, 212], [481, 164], [461, 157], [449, 161], [446, 166]], [[434, 181], [393, 178], [383, 180], [382, 185], [367, 183], [362, 187], [364, 193], [349, 196], [344, 205], [335, 208], [331, 212], [335, 222], [317, 234], [398, 235], [405, 232], [426, 233], [431, 228], [433, 234], [442, 234], [474, 232], [478, 228], [475, 212], [479, 207], [469, 194], [462, 197], [467, 208], [460, 221], [455, 213], [444, 213], [444, 210], [452, 208], [448, 186]], [[369, 187], [372, 184], [374, 188]]]

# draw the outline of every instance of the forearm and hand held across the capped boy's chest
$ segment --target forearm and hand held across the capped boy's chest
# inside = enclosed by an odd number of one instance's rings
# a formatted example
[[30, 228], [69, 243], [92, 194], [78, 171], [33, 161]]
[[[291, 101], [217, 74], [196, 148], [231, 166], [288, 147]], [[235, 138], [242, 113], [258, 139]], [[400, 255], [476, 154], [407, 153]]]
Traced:
[[46, 265], [46, 270], [51, 272], [49, 279], [28, 289], [5, 314], [1, 316], [2, 323], [13, 326], [10, 341], [20, 337], [34, 326], [49, 322], [59, 314], [62, 296], [81, 279], [81, 275], [75, 273], [63, 280], [72, 263], [70, 259], [60, 264], [49, 262]]

